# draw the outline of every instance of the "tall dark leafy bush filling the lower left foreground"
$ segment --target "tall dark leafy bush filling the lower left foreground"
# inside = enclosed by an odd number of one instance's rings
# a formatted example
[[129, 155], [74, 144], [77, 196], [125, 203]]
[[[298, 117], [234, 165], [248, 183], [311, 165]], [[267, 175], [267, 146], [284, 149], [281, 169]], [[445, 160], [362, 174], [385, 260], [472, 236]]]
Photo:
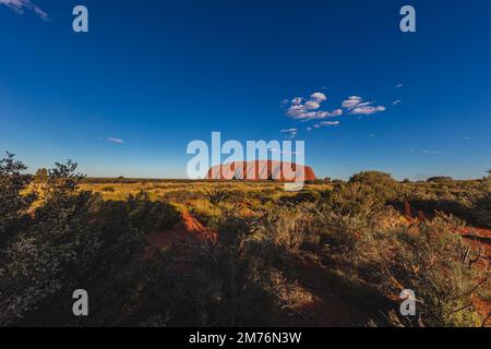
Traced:
[[43, 205], [7, 249], [0, 269], [1, 324], [47, 306], [92, 267], [99, 240], [88, 221], [97, 197], [76, 191], [81, 176], [75, 167], [69, 161], [49, 171]]

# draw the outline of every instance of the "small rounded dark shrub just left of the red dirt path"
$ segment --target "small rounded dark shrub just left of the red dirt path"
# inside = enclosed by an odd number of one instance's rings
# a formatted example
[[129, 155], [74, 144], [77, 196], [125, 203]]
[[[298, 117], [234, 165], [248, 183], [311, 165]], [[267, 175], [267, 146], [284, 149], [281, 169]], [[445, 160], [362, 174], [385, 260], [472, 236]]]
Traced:
[[171, 228], [181, 218], [173, 205], [160, 201], [153, 202], [144, 191], [130, 195], [128, 206], [132, 226], [142, 232]]

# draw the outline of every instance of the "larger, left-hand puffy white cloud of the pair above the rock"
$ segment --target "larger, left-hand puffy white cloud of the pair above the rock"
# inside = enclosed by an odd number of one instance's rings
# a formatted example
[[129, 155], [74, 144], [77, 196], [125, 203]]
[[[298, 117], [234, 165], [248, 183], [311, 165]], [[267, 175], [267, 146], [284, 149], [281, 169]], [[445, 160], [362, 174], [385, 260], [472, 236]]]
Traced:
[[295, 97], [286, 110], [286, 115], [295, 120], [319, 120], [334, 118], [343, 115], [342, 109], [333, 111], [321, 110], [322, 104], [327, 100], [327, 96], [322, 92], [310, 95], [309, 98]]

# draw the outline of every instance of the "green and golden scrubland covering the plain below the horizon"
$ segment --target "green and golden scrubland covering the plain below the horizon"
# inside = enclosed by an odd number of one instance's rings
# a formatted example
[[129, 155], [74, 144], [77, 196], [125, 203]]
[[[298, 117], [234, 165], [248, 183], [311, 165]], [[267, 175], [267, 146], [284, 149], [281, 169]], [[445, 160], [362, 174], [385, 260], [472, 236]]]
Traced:
[[[35, 178], [0, 164], [0, 325], [486, 326], [491, 180]], [[144, 257], [191, 215], [205, 231]], [[89, 316], [72, 314], [86, 289]], [[398, 312], [412, 289], [417, 315]]]

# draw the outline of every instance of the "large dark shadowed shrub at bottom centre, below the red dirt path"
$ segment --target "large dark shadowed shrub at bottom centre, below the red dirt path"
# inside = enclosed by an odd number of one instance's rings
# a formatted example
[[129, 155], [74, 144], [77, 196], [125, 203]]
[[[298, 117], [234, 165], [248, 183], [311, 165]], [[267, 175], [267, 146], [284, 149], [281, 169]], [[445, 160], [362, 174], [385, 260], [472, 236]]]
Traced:
[[224, 217], [216, 243], [192, 250], [192, 273], [160, 284], [159, 311], [169, 325], [272, 325], [283, 280], [266, 263], [251, 221]]

